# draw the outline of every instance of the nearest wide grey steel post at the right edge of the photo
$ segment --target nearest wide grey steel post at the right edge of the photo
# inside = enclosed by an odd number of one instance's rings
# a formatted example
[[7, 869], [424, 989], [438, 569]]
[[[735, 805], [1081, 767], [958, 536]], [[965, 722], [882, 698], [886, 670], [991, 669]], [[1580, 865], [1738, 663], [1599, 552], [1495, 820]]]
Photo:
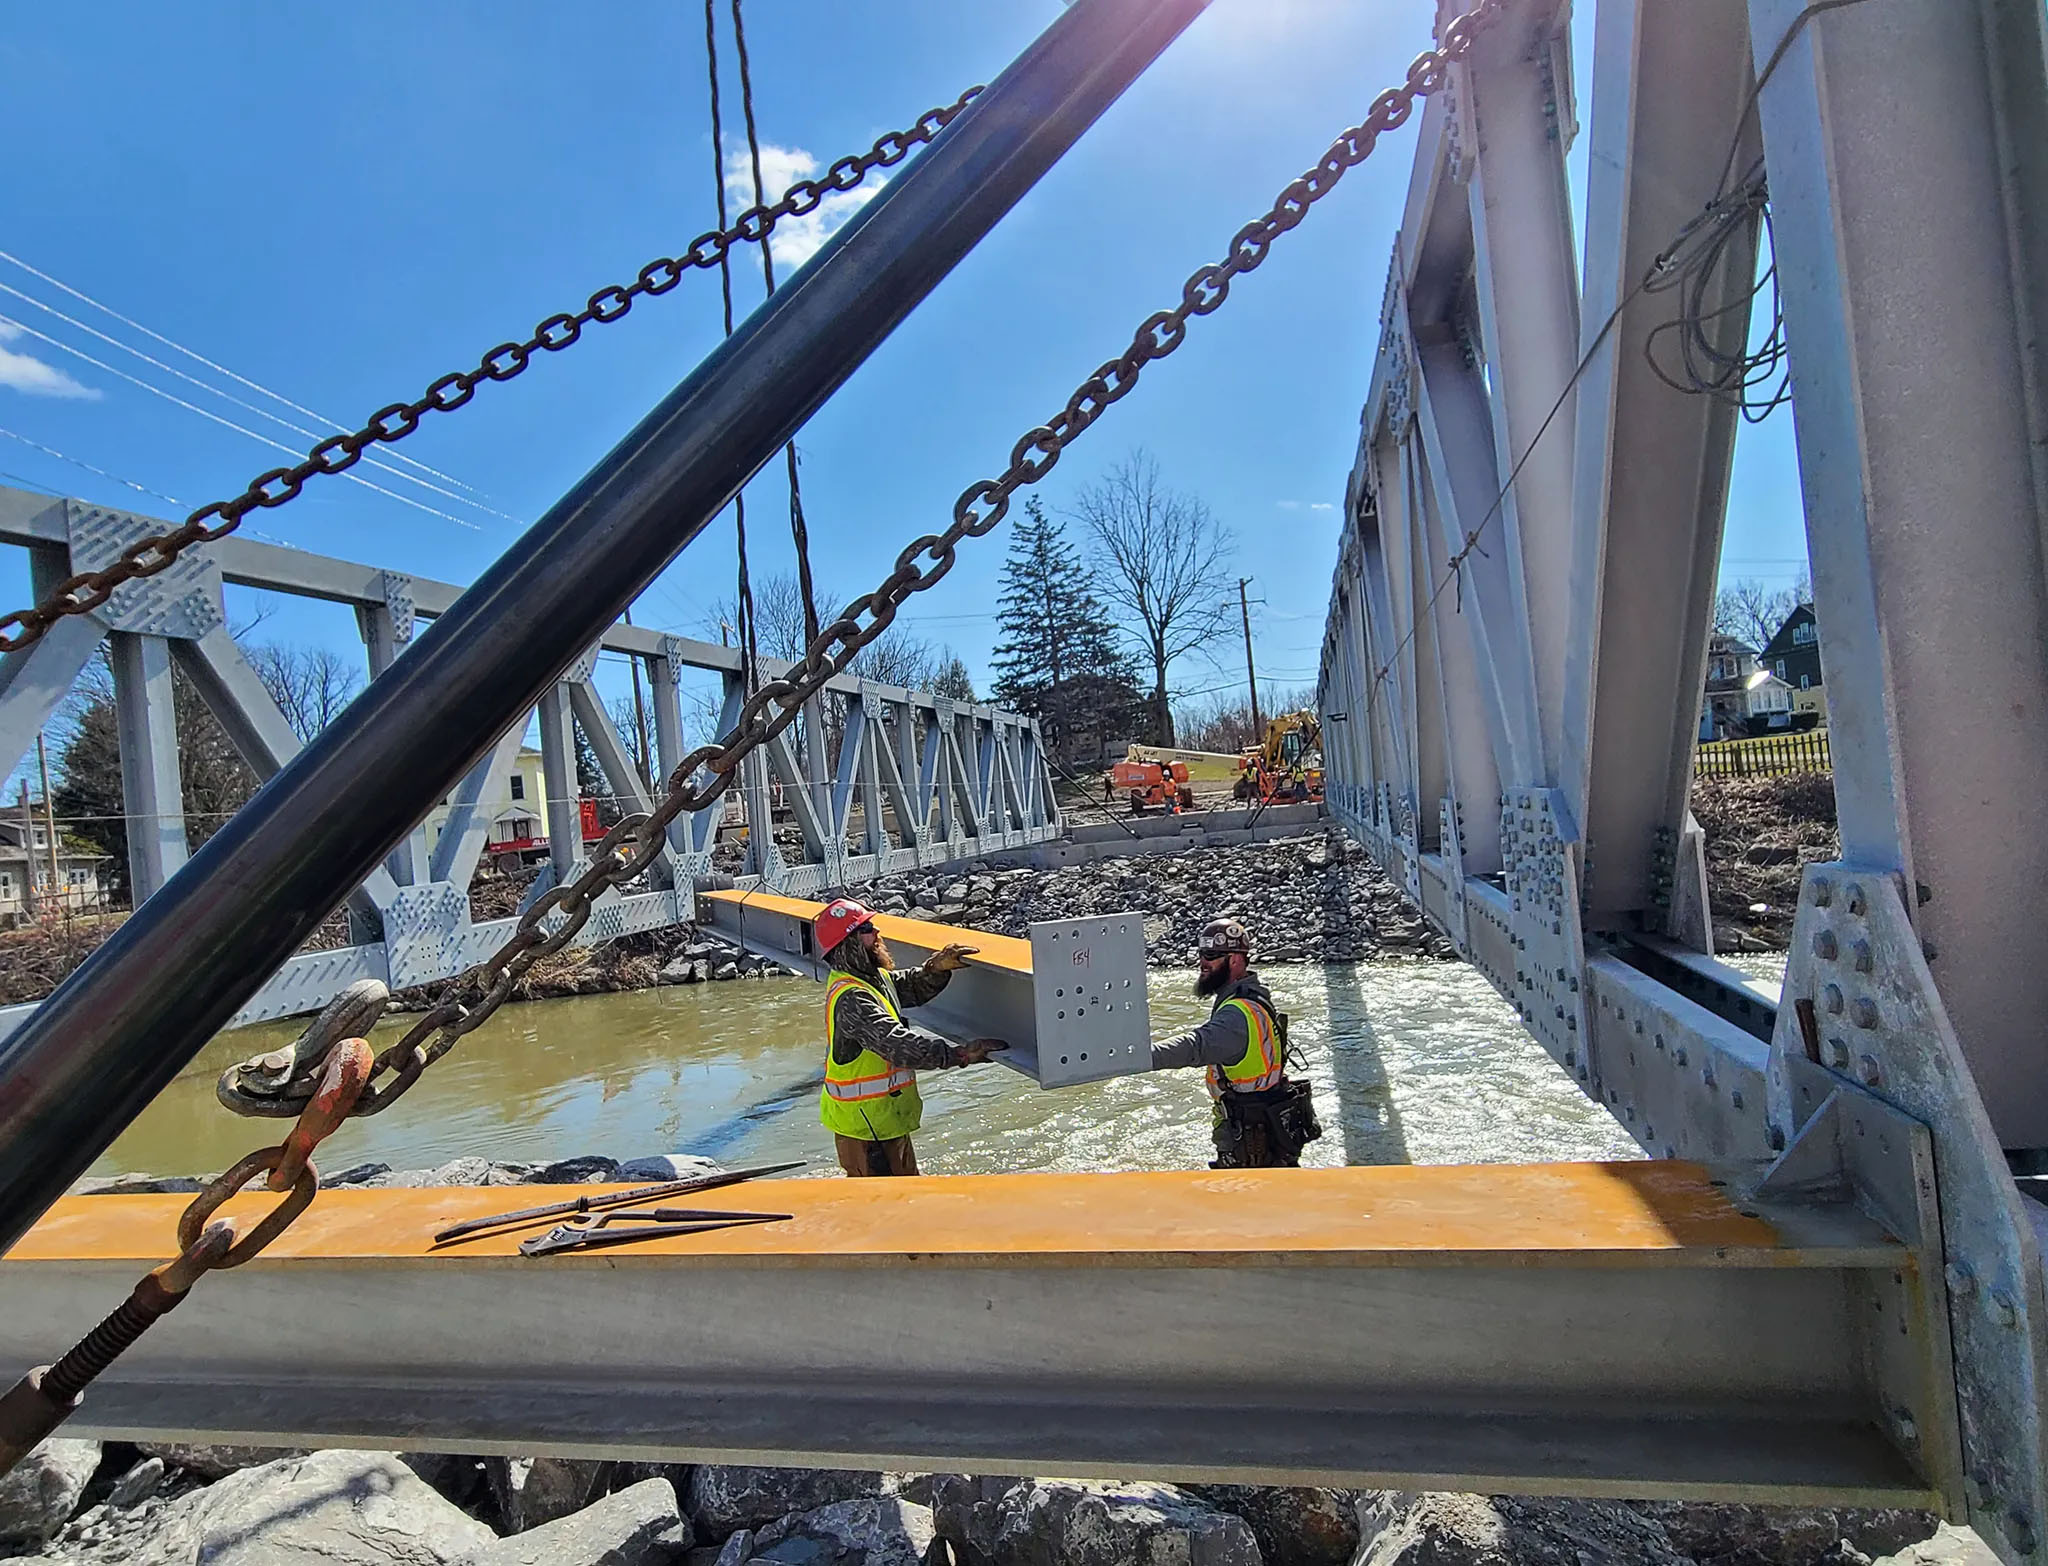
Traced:
[[[1759, 59], [1798, 10], [1753, 0]], [[1853, 6], [1761, 94], [1841, 854], [1903, 880], [2007, 1148], [2048, 1148], [2040, 35]]]

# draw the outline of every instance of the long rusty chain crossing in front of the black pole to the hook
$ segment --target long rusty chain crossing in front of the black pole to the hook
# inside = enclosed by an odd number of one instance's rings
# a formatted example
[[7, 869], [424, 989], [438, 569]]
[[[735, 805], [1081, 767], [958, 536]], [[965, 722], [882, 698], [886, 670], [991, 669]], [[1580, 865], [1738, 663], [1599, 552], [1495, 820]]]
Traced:
[[[952, 506], [952, 526], [918, 538], [897, 555], [889, 577], [823, 626], [803, 661], [780, 680], [758, 686], [725, 735], [690, 751], [670, 774], [668, 790], [653, 813], [618, 821], [604, 833], [575, 880], [535, 899], [520, 915], [512, 938], [483, 964], [449, 985], [406, 1036], [377, 1056], [373, 1085], [356, 1099], [354, 1114], [379, 1114], [395, 1103], [420, 1081], [420, 1073], [453, 1050], [463, 1034], [481, 1028], [510, 999], [535, 962], [575, 940], [606, 888], [623, 886], [653, 864], [668, 839], [670, 823], [717, 802], [739, 762], [795, 723], [803, 704], [889, 628], [905, 600], [940, 581], [952, 569], [961, 540], [993, 530], [1008, 514], [1010, 497], [1051, 473], [1067, 446], [1112, 403], [1130, 395], [1147, 364], [1180, 348], [1188, 336], [1188, 317], [1208, 315], [1221, 307], [1231, 293], [1231, 280], [1257, 268], [1274, 240], [1296, 227], [1309, 207], [1337, 186], [1346, 170], [1362, 164], [1384, 131], [1407, 123], [1415, 100], [1444, 86], [1450, 66], [1470, 51], [1479, 31], [1505, 8], [1507, 0], [1479, 0], [1473, 10], [1452, 20], [1442, 33], [1442, 43], [1409, 66], [1401, 86], [1374, 98], [1372, 111], [1360, 125], [1339, 135], [1315, 168], [1278, 194], [1264, 217], [1237, 231], [1221, 262], [1202, 266], [1188, 278], [1180, 305], [1147, 317], [1118, 358], [1090, 375], [1047, 424], [1028, 430], [1010, 450], [1010, 467], [999, 477], [981, 479], [961, 493]], [[920, 565], [920, 557], [928, 563]], [[862, 624], [862, 616], [872, 618]], [[780, 710], [770, 712], [770, 706]], [[283, 1099], [283, 1103], [293, 1101], [291, 1093]]]

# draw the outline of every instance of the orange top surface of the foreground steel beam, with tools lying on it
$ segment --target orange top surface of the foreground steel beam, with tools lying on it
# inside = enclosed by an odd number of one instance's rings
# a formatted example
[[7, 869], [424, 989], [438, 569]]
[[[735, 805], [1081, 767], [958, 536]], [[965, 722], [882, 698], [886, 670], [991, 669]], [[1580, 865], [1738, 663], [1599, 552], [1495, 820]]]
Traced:
[[[1372, 1265], [1374, 1257], [1511, 1255], [1616, 1267], [1798, 1267], [1806, 1249], [1745, 1218], [1688, 1163], [1384, 1165], [1368, 1169], [1245, 1169], [1104, 1175], [952, 1175], [915, 1181], [782, 1179], [692, 1195], [690, 1206], [791, 1212], [698, 1236], [604, 1253], [604, 1265], [653, 1257], [791, 1263], [985, 1259], [1004, 1265], [1149, 1259]], [[446, 1187], [338, 1189], [293, 1224], [252, 1267], [291, 1261], [418, 1261], [516, 1257], [516, 1232], [436, 1247], [465, 1218], [575, 1195], [631, 1189]], [[223, 1214], [256, 1216], [274, 1198], [236, 1198]], [[23, 1236], [0, 1279], [45, 1261], [137, 1261], [168, 1255], [182, 1195], [74, 1195]], [[1841, 1251], [1827, 1253], [1839, 1265]], [[1894, 1245], [1864, 1257], [1896, 1259]], [[559, 1267], [565, 1259], [520, 1261]], [[246, 1275], [246, 1273], [244, 1273]], [[209, 1286], [233, 1288], [233, 1279]]]

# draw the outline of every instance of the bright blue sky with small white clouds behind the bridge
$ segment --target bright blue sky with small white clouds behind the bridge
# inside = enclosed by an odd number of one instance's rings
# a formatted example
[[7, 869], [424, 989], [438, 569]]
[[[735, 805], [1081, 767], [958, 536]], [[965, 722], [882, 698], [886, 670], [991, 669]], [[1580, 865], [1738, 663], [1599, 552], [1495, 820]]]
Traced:
[[[1057, 10], [1057, 0], [752, 0], [772, 166], [825, 164], [950, 102]], [[725, 0], [719, 12], [723, 35]], [[1583, 4], [1585, 125], [1589, 41]], [[967, 483], [999, 471], [1016, 436], [1063, 405], [1139, 319], [1174, 303], [1182, 278], [1425, 45], [1427, 6], [1415, 0], [1217, 0], [805, 430], [819, 581], [842, 598], [864, 592], [901, 542], [940, 526]], [[733, 147], [729, 53], [725, 66]], [[0, 72], [0, 141], [12, 149], [0, 170], [0, 250], [346, 424], [713, 225], [694, 0], [631, 12], [469, 0], [379, 23], [254, 2], [39, 6], [10, 18]], [[1411, 154], [1413, 133], [1382, 141], [1044, 485], [1059, 512], [1143, 446], [1200, 493], [1233, 528], [1239, 571], [1266, 600], [1253, 626], [1262, 684], [1315, 673]], [[1571, 162], [1579, 186], [1583, 135]], [[16, 264], [0, 260], [0, 285], [311, 428]], [[741, 309], [758, 301], [752, 254], [735, 287]], [[0, 293], [0, 481], [172, 514], [162, 497], [197, 506], [287, 461], [115, 371], [295, 450], [309, 444], [18, 295]], [[365, 471], [416, 504], [326, 481], [250, 526], [469, 581], [516, 520], [539, 516], [719, 330], [717, 280], [698, 274], [399, 446], [463, 499]], [[780, 465], [750, 495], [754, 569], [786, 569]], [[963, 553], [903, 616], [954, 645], [977, 680], [1006, 547], [1008, 530]], [[1780, 414], [1739, 446], [1724, 575], [1784, 583], [1802, 553], [1792, 424]], [[670, 567], [635, 618], [702, 635], [731, 579], [725, 522]], [[25, 594], [18, 551], [0, 551], [0, 596]], [[358, 655], [352, 620], [332, 606], [281, 600], [262, 635]], [[1217, 665], [1190, 659], [1176, 671], [1182, 690], [1233, 682], [1235, 639]]]

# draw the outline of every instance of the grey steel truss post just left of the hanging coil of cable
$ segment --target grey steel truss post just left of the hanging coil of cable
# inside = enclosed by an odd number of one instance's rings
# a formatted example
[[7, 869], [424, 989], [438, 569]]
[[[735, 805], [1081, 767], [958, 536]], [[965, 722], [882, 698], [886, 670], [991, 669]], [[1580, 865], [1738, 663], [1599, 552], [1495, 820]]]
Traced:
[[1720, 354], [1743, 352], [1755, 219], [1726, 240], [1706, 297], [1638, 285], [1716, 182], [1739, 186], [1759, 154], [1753, 121], [1737, 123], [1753, 80], [1749, 37], [1731, 6], [1610, 0], [1593, 53], [1602, 96], [1573, 479], [1579, 618], [1561, 786], [1585, 833], [1587, 921], [1710, 950], [1710, 921], [1686, 890], [1698, 843], [1681, 839], [1739, 409], [1663, 377], [1679, 364], [1675, 328], [1690, 309]]

